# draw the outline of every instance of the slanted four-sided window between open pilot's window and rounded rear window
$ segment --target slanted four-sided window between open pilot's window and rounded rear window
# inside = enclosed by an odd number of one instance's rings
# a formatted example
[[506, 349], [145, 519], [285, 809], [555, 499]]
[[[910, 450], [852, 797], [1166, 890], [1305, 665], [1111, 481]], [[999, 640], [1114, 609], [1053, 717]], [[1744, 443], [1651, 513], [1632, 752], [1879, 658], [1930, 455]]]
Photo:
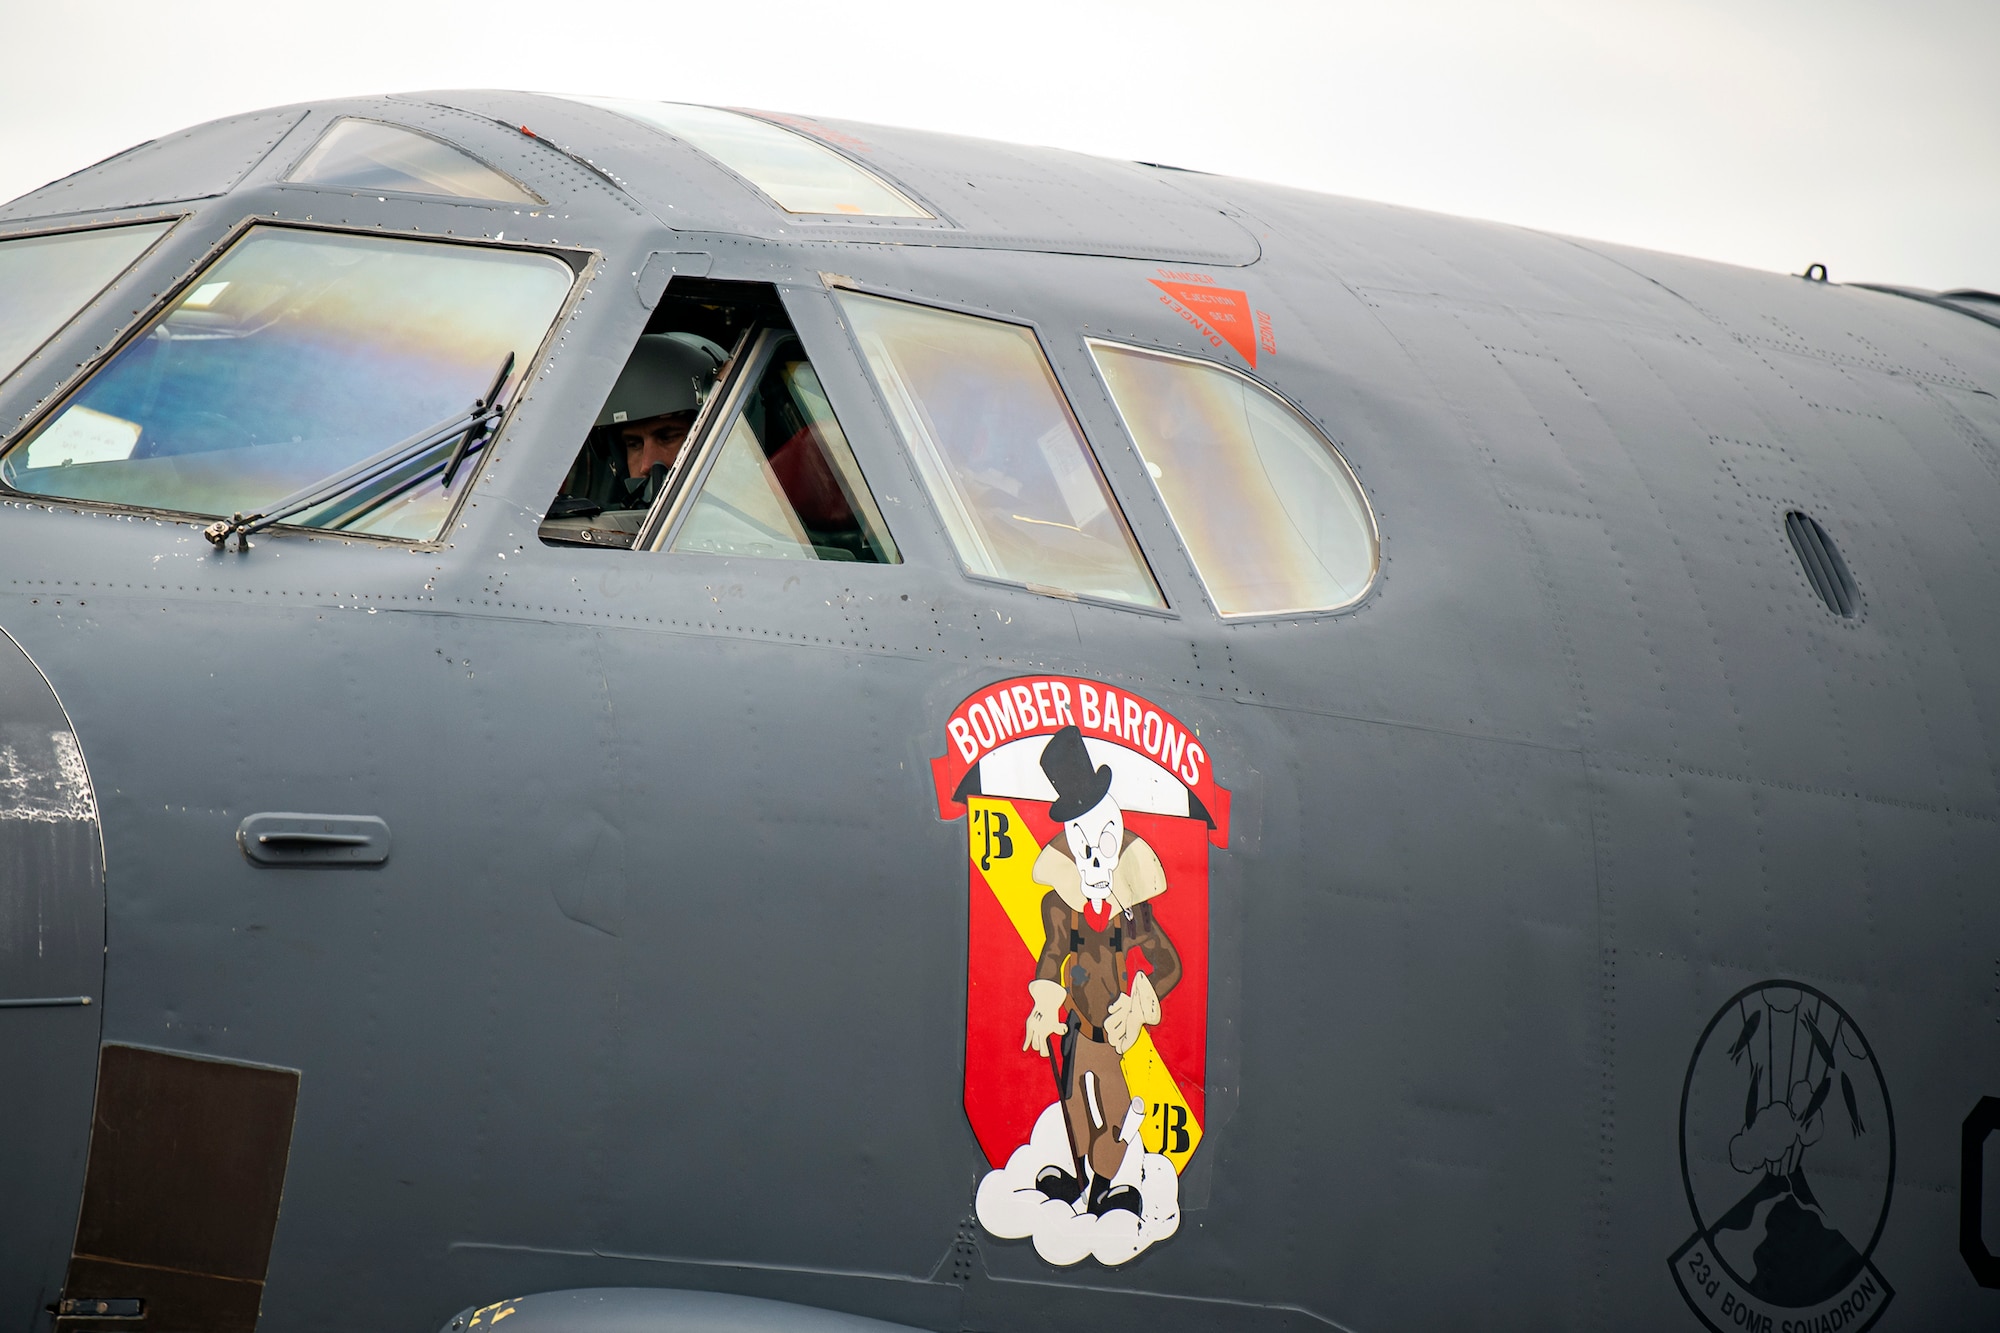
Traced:
[[1166, 604], [1032, 330], [858, 292], [840, 306], [966, 568]]

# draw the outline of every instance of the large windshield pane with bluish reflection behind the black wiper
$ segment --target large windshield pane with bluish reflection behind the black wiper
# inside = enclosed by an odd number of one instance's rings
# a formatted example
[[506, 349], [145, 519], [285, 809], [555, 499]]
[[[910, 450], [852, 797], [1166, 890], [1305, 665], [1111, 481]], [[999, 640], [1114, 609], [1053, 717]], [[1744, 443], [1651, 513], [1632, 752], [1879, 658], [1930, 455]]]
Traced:
[[286, 522], [434, 538], [472, 436], [426, 432], [488, 398], [508, 358], [520, 382], [572, 282], [550, 254], [250, 228], [0, 458], [0, 480], [226, 518], [354, 470]]

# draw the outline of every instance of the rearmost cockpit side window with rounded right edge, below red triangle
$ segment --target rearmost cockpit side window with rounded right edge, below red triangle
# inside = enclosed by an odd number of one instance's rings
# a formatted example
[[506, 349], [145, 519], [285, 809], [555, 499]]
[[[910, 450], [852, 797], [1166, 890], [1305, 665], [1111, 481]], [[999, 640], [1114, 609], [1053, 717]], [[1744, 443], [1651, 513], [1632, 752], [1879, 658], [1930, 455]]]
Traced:
[[1324, 434], [1224, 366], [1090, 342], [1216, 610], [1332, 610], [1380, 558], [1374, 514]]

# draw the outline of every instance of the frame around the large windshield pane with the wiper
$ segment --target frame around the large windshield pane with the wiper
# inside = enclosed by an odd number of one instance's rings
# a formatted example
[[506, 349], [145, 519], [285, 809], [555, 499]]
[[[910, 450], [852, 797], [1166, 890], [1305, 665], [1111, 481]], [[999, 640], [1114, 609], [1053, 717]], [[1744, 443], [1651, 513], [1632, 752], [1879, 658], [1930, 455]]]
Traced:
[[[320, 186], [304, 186], [304, 188], [320, 188]], [[426, 194], [420, 198], [436, 200], [438, 196]], [[478, 478], [486, 474], [488, 460], [500, 450], [508, 426], [514, 422], [516, 412], [526, 400], [528, 386], [532, 384], [536, 374], [548, 364], [556, 340], [562, 336], [562, 330], [570, 324], [572, 316], [576, 314], [576, 306], [584, 300], [592, 280], [602, 270], [604, 254], [600, 250], [588, 250], [582, 246], [550, 246], [534, 242], [488, 240], [484, 236], [438, 236], [434, 232], [420, 232], [414, 228], [392, 230], [386, 226], [366, 226], [366, 224], [300, 222], [292, 218], [270, 218], [256, 214], [238, 218], [228, 230], [222, 232], [222, 236], [218, 236], [206, 250], [202, 250], [202, 254], [188, 260], [186, 272], [182, 272], [182, 276], [176, 278], [174, 282], [162, 286], [160, 294], [138, 314], [138, 318], [134, 318], [126, 328], [122, 328], [116, 338], [110, 338], [100, 352], [90, 356], [90, 360], [80, 364], [74, 374], [70, 374], [56, 390], [52, 390], [48, 398], [40, 404], [40, 408], [24, 416], [20, 424], [14, 426], [12, 430], [0, 432], [0, 454], [12, 452], [26, 436], [34, 434], [36, 430], [42, 428], [44, 422], [52, 420], [64, 408], [68, 408], [70, 402], [76, 398], [76, 394], [84, 388], [84, 384], [88, 384], [120, 352], [124, 352], [138, 338], [150, 332], [158, 324], [158, 320], [164, 318], [164, 314], [176, 302], [180, 302], [180, 298], [186, 292], [200, 286], [202, 276], [210, 268], [214, 268], [214, 264], [254, 228], [284, 228], [294, 232], [336, 234], [336, 236], [368, 236], [374, 240], [390, 238], [390, 240], [416, 240], [428, 244], [458, 244], [458, 246], [476, 246], [490, 250], [512, 250], [516, 254], [546, 254], [554, 260], [560, 260], [570, 270], [570, 292], [562, 298], [562, 304], [556, 306], [556, 314], [548, 324], [548, 332], [542, 334], [542, 342], [524, 362], [516, 364], [514, 396], [508, 398], [506, 412], [500, 416], [492, 432], [486, 436], [486, 444], [478, 450], [478, 458], [472, 460], [470, 468], [462, 470], [458, 478], [458, 494], [452, 498], [452, 504], [444, 514], [444, 522], [440, 524], [436, 536], [412, 540], [408, 536], [384, 536], [378, 532], [348, 532], [342, 528], [316, 528], [310, 524], [292, 524], [292, 522], [274, 522], [268, 528], [264, 528], [270, 534], [288, 532], [300, 536], [336, 538], [342, 542], [392, 546], [398, 550], [436, 550], [446, 546], [450, 542], [452, 528], [458, 524], [458, 518], [464, 512], [466, 498], [472, 494], [472, 488], [478, 482]], [[40, 504], [46, 508], [68, 508], [80, 514], [144, 514], [148, 518], [164, 518], [168, 522], [186, 522], [196, 530], [216, 520], [214, 514], [194, 514], [184, 508], [162, 508], [158, 504], [124, 504], [118, 500], [80, 500], [58, 494], [32, 494], [26, 490], [14, 490], [4, 480], [0, 480], [0, 496]]]

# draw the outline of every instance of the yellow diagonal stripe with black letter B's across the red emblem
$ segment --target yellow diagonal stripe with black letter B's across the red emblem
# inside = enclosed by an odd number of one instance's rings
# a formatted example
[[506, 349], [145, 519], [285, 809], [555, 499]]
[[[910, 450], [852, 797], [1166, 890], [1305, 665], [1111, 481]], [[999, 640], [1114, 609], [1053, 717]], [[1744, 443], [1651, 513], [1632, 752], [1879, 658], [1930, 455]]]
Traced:
[[[972, 869], [1000, 903], [1000, 911], [1020, 933], [1028, 957], [1042, 957], [1042, 897], [1046, 885], [1034, 883], [1034, 859], [1042, 853], [1034, 835], [1012, 801], [1000, 797], [970, 797], [966, 801], [966, 853]], [[1022, 997], [1026, 1001], [1026, 995]], [[1188, 1099], [1152, 1045], [1152, 1033], [1140, 1031], [1132, 1049], [1120, 1057], [1126, 1085], [1134, 1097], [1146, 1099], [1146, 1125], [1140, 1137], [1146, 1151], [1164, 1153], [1174, 1171], [1184, 1171], [1202, 1143], [1202, 1123], [1194, 1119]]]

